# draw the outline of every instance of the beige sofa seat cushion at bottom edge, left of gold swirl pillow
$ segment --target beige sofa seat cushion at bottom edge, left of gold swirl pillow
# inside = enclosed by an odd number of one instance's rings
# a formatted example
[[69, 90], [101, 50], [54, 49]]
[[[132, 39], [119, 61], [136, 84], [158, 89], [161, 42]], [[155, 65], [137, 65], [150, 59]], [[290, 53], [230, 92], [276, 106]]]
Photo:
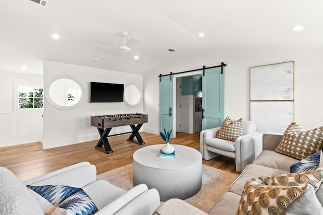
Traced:
[[223, 194], [216, 205], [210, 209], [208, 214], [210, 215], [223, 215], [223, 214], [235, 214], [237, 211], [239, 201], [241, 196], [233, 193], [233, 192], [226, 192]]

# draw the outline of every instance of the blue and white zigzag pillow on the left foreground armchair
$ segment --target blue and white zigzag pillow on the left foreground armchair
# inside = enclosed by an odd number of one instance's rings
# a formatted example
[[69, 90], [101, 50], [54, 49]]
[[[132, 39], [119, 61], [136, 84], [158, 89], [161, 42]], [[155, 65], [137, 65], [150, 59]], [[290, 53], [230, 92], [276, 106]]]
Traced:
[[41, 195], [52, 205], [64, 208], [73, 214], [92, 215], [98, 211], [92, 199], [82, 188], [63, 185], [27, 185], [27, 187]]

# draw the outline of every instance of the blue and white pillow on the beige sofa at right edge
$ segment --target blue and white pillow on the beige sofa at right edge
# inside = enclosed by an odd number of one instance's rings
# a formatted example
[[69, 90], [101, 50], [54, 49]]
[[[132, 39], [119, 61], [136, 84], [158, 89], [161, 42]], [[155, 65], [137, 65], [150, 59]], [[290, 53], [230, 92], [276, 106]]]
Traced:
[[306, 172], [314, 170], [320, 166], [323, 166], [323, 156], [321, 150], [290, 166], [290, 173]]

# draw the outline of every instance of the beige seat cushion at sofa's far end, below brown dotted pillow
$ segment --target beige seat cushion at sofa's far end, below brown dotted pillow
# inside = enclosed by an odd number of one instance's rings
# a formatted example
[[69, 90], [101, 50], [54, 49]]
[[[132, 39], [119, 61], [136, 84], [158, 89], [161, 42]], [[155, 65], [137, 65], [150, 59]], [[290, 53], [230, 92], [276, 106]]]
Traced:
[[260, 155], [253, 161], [252, 164], [261, 165], [264, 167], [270, 167], [273, 169], [290, 171], [290, 166], [297, 163], [299, 160], [276, 153], [271, 150], [264, 150]]

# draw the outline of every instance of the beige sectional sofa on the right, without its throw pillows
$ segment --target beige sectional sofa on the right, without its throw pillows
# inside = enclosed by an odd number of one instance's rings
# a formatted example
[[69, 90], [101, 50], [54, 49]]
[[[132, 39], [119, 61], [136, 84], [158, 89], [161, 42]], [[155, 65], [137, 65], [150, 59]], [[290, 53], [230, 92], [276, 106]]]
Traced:
[[[171, 214], [235, 214], [237, 212], [241, 194], [245, 183], [251, 178], [261, 176], [271, 176], [288, 174], [290, 166], [299, 162], [299, 160], [276, 153], [274, 150], [279, 145], [283, 135], [274, 133], [257, 133], [249, 138], [249, 142], [254, 145], [262, 145], [263, 151], [253, 161], [252, 164], [246, 166], [240, 176], [231, 184], [230, 189], [226, 192], [208, 213], [205, 213], [196, 207], [186, 203], [181, 199], [170, 199], [161, 204], [154, 212], [155, 215], [171, 215]], [[259, 147], [259, 146], [256, 146]], [[216, 188], [214, 188], [216, 189]], [[320, 186], [316, 192], [316, 197], [320, 204], [323, 205], [323, 187]], [[314, 200], [314, 199], [313, 199]], [[317, 200], [315, 200], [317, 201]], [[318, 204], [319, 204], [318, 203]], [[320, 206], [320, 205], [319, 205]], [[303, 211], [306, 208], [306, 212]], [[296, 209], [293, 208], [293, 209]], [[322, 214], [320, 211], [310, 211], [310, 205], [304, 205], [297, 208], [298, 214]], [[286, 214], [295, 214], [295, 211], [286, 212]]]

